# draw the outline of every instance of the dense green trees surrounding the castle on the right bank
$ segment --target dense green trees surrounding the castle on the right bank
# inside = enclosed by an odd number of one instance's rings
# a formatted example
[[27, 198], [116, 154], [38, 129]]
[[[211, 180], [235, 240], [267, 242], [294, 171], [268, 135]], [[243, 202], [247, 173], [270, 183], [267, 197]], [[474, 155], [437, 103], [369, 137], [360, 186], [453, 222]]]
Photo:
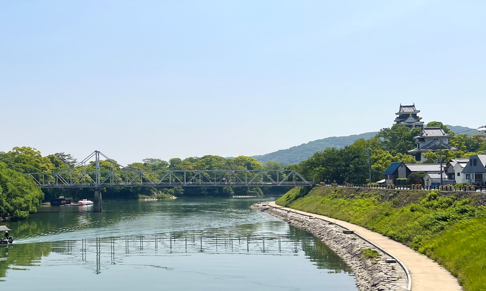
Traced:
[[[457, 151], [443, 150], [443, 162], [453, 158], [469, 158], [470, 155], [485, 152], [485, 136], [482, 134], [455, 134], [441, 122], [435, 121], [429, 122], [427, 127], [442, 127], [446, 133], [451, 134], [449, 144], [458, 148]], [[297, 169], [306, 178], [315, 182], [327, 180], [336, 183], [364, 183], [369, 177], [367, 150], [370, 149], [371, 180], [377, 181], [382, 179], [382, 172], [392, 162], [417, 163], [415, 158], [408, 154], [408, 150], [417, 146], [414, 137], [419, 133], [420, 129], [410, 130], [404, 126], [394, 125], [380, 130], [371, 139], [359, 139], [341, 149], [327, 148], [314, 153], [298, 165], [290, 165], [287, 168]], [[440, 159], [439, 152], [428, 152], [424, 157], [427, 159], [425, 163], [438, 162]]]

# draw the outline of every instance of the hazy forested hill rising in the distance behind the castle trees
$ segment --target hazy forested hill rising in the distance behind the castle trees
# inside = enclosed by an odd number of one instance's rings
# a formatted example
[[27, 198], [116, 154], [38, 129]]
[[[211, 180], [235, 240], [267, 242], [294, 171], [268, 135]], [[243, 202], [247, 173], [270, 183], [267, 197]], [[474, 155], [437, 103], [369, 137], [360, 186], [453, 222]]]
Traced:
[[[477, 129], [471, 130], [470, 128], [463, 127], [463, 126], [447, 125], [447, 127], [454, 132], [465, 133], [468, 135], [474, 135], [480, 132]], [[292, 146], [291, 148], [280, 149], [273, 153], [253, 156], [253, 158], [257, 159], [260, 162], [274, 161], [274, 162], [280, 162], [284, 165], [296, 164], [303, 160], [308, 159], [310, 156], [312, 156], [313, 153], [324, 150], [328, 147], [342, 148], [351, 145], [352, 143], [354, 143], [354, 141], [360, 138], [369, 139], [375, 136], [376, 134], [377, 131], [373, 131], [373, 132], [353, 134], [348, 136], [327, 137], [312, 142], [308, 142], [307, 144], [302, 144], [300, 146]]]

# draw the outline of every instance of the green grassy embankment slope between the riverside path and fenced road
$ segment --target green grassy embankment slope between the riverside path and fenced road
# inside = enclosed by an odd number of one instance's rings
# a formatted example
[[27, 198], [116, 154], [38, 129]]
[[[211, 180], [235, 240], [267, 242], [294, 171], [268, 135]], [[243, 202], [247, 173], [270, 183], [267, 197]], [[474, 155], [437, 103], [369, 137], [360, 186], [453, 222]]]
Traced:
[[379, 232], [434, 259], [458, 277], [464, 290], [486, 290], [486, 207], [470, 198], [315, 187], [310, 192], [294, 188], [277, 204]]

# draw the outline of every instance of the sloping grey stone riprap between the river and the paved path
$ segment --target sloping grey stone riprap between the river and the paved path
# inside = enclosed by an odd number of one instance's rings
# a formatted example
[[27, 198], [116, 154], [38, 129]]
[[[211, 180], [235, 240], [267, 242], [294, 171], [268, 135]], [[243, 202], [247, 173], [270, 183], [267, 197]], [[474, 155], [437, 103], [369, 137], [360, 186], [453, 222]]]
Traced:
[[[273, 208], [264, 202], [254, 204], [250, 208], [278, 217], [320, 238], [353, 270], [358, 290], [407, 290], [407, 275], [399, 263], [356, 234], [345, 234], [343, 232], [343, 230], [346, 230], [345, 228], [314, 217]], [[364, 256], [364, 251], [368, 249], [378, 252], [378, 256], [374, 258]], [[376, 254], [375, 252], [372, 253]]]

